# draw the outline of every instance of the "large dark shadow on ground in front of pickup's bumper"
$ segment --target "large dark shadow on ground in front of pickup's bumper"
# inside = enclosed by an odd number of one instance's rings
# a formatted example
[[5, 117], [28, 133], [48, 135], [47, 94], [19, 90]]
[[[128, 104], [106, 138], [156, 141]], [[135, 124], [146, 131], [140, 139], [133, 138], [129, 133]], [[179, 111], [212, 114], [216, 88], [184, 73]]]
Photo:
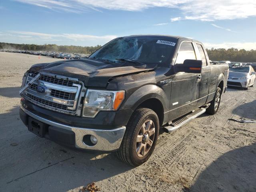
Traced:
[[4, 149], [1, 150], [4, 160], [0, 162], [0, 191], [1, 188], [5, 191], [67, 191], [134, 168], [121, 162], [114, 152], [70, 149], [39, 138], [27, 130], [18, 111], [17, 106], [0, 114], [4, 132], [0, 135]]

